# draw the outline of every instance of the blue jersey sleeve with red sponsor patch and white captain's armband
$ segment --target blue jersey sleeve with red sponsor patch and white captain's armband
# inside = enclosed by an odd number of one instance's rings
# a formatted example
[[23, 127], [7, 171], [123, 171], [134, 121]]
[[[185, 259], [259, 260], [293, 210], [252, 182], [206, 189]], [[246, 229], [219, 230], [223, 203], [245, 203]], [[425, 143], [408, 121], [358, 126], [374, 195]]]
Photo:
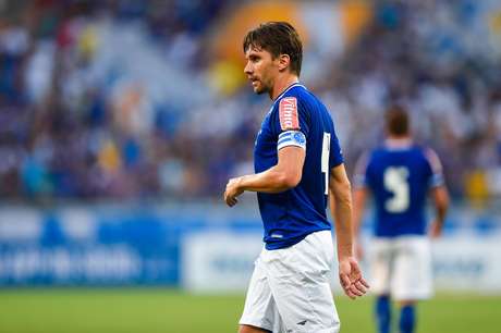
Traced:
[[306, 149], [309, 134], [308, 118], [296, 97], [284, 97], [273, 107], [270, 127], [278, 139], [277, 150], [288, 146]]

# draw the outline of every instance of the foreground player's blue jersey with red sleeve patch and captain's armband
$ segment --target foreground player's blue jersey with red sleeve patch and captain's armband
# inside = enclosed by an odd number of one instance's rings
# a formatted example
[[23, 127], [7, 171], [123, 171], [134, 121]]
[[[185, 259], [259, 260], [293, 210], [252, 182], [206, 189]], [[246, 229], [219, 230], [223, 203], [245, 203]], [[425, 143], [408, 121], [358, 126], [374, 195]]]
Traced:
[[327, 108], [300, 84], [285, 89], [262, 121], [254, 148], [256, 173], [274, 166], [278, 151], [288, 146], [306, 149], [303, 176], [289, 190], [257, 194], [267, 249], [289, 247], [331, 229], [326, 214], [329, 170], [343, 158]]

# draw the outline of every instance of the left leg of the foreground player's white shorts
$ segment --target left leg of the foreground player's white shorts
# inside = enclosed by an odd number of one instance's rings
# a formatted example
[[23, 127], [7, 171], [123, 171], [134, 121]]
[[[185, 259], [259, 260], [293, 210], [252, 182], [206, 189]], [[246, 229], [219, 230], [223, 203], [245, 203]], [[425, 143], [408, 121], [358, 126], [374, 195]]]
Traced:
[[[261, 254], [262, 255], [262, 254]], [[239, 332], [276, 331], [280, 325], [277, 306], [271, 295], [271, 288], [266, 271], [262, 268], [261, 256], [254, 264], [254, 272], [247, 288], [244, 311], [239, 323]]]

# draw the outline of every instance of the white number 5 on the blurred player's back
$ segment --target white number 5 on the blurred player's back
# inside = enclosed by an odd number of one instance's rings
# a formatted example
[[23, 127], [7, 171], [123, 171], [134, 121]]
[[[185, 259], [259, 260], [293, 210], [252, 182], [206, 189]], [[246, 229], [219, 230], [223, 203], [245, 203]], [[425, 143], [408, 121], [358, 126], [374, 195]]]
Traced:
[[393, 194], [384, 202], [384, 207], [389, 212], [400, 213], [407, 210], [410, 205], [410, 188], [408, 188], [408, 169], [405, 166], [390, 166], [384, 170], [384, 188]]

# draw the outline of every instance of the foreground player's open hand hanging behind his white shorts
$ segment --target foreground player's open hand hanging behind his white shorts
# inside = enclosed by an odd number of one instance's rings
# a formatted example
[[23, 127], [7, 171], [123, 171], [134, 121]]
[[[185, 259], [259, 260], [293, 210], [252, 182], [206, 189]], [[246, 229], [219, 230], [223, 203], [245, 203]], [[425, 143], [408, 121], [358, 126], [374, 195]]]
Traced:
[[340, 259], [339, 281], [344, 294], [352, 299], [364, 296], [369, 288], [369, 284], [362, 278], [358, 262], [353, 257]]

